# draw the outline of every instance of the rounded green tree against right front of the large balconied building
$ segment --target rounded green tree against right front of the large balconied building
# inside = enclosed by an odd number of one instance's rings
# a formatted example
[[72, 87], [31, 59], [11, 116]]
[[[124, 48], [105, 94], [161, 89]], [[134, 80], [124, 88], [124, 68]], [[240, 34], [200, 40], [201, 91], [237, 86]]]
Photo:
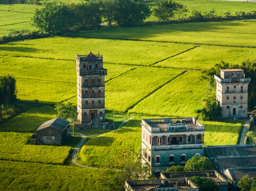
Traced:
[[184, 167], [185, 171], [211, 170], [211, 161], [207, 157], [194, 156], [189, 159]]

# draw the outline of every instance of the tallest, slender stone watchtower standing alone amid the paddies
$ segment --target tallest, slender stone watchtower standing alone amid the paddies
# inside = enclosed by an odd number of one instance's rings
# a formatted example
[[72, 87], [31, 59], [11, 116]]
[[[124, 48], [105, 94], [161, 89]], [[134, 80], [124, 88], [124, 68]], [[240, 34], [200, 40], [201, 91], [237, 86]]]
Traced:
[[105, 75], [102, 55], [77, 54], [77, 112], [81, 124], [97, 126], [105, 120]]

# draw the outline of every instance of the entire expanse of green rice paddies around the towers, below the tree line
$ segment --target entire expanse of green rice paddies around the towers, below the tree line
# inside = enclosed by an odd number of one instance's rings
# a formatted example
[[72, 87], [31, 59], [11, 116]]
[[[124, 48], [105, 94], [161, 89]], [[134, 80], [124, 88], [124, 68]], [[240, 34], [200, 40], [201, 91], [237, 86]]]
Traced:
[[[0, 11], [4, 9], [1, 7]], [[31, 11], [24, 6], [20, 12], [26, 10]], [[201, 78], [202, 70], [221, 61], [241, 64], [247, 59], [255, 60], [255, 22], [105, 28], [78, 32], [72, 37], [0, 45], [0, 75], [14, 76], [18, 98], [33, 105], [32, 109], [0, 124], [0, 132], [5, 132], [0, 133], [0, 177], [4, 177], [0, 189], [106, 190], [97, 184], [100, 169], [71, 164], [70, 153], [79, 140], [71, 138], [62, 147], [28, 144], [36, 128], [56, 117], [54, 103], [76, 104], [76, 53], [100, 51], [103, 55], [103, 66], [108, 69], [106, 117], [114, 121], [115, 127], [132, 117], [124, 127], [111, 132], [82, 131], [88, 138], [78, 162], [103, 167], [119, 150], [129, 147], [138, 150], [141, 118], [196, 116], [208, 88], [208, 82]], [[35, 99], [39, 101], [38, 107]], [[202, 123], [206, 130], [205, 145], [237, 143], [241, 124]]]

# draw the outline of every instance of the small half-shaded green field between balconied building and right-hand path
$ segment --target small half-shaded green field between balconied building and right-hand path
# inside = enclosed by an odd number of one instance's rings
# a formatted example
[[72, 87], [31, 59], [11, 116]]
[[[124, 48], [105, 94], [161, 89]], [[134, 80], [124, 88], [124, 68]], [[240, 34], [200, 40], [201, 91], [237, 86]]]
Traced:
[[239, 137], [242, 125], [221, 123], [215, 121], [202, 121], [204, 125], [205, 145], [235, 145]]

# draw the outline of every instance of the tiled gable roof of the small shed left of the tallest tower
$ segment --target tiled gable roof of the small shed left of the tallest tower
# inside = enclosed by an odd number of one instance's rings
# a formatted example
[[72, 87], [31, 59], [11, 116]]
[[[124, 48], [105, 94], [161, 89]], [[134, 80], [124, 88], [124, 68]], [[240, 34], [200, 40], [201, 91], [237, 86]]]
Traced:
[[52, 127], [62, 131], [65, 127], [69, 125], [69, 123], [70, 123], [69, 121], [62, 119], [60, 117], [57, 117], [57, 118], [46, 121], [40, 127], [38, 127], [36, 131], [40, 131], [41, 129], [44, 129], [47, 127]]

